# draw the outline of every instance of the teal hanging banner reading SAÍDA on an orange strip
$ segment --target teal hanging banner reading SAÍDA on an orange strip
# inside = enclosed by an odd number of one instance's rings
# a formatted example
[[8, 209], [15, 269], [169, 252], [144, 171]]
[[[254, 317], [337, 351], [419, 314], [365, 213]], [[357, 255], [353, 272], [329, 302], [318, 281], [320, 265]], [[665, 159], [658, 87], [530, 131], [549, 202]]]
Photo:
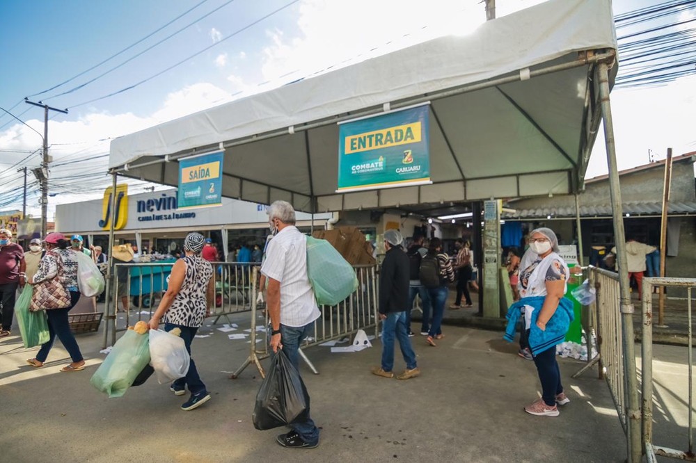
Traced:
[[221, 206], [225, 152], [199, 154], [179, 161], [179, 209]]

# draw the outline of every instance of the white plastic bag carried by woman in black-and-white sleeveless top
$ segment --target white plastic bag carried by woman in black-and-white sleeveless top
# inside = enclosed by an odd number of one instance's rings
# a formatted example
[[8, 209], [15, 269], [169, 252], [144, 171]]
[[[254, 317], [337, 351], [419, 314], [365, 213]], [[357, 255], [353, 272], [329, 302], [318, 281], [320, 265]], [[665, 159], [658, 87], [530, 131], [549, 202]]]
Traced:
[[150, 330], [150, 365], [159, 384], [169, 383], [189, 372], [191, 356], [184, 340], [162, 330]]

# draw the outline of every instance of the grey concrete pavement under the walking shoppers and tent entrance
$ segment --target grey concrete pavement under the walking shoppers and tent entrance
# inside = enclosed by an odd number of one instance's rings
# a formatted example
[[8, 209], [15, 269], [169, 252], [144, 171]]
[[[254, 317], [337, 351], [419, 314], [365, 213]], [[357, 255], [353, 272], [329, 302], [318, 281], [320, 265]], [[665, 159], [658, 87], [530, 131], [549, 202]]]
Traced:
[[[240, 330], [249, 314], [235, 316]], [[312, 398], [312, 415], [322, 428], [314, 450], [290, 450], [275, 443], [284, 428], [260, 432], [251, 412], [261, 384], [248, 367], [228, 379], [248, 355], [249, 344], [205, 327], [193, 343], [193, 358], [212, 400], [183, 412], [187, 396], [175, 397], [153, 376], [122, 398], [107, 398], [89, 384], [102, 362], [102, 334], [78, 342], [88, 368], [60, 373], [68, 363], [61, 343], [46, 366], [24, 360], [18, 330], [0, 341], [0, 455], [6, 462], [619, 462], [625, 440], [608, 388], [592, 373], [571, 374], [582, 364], [559, 359], [571, 403], [557, 418], [525, 414], [537, 398], [532, 362], [516, 355], [502, 333], [443, 327], [438, 347], [412, 338], [422, 375], [407, 381], [370, 375], [381, 345], [349, 354], [308, 348], [319, 369], [301, 373]], [[395, 371], [404, 368], [399, 351]], [[268, 361], [264, 361], [267, 365]]]

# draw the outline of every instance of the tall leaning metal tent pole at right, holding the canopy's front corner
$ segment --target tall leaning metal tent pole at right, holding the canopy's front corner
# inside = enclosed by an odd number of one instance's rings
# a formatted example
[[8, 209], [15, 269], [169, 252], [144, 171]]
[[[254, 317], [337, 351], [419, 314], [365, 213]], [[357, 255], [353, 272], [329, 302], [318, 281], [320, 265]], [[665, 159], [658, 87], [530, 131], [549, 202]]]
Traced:
[[616, 163], [616, 145], [614, 141], [614, 124], [611, 117], [609, 98], [609, 66], [605, 61], [597, 65], [599, 81], [599, 97], [601, 100], [604, 119], [604, 138], [606, 143], [607, 164], [609, 167], [609, 187], [612, 204], [612, 221], [617, 249], [617, 264], [619, 270], [619, 305], [621, 308], [622, 334], [624, 336], [624, 375], [626, 394], [626, 452], [628, 463], [638, 463], [641, 460], [640, 446], [640, 412], [638, 411], [638, 377], [635, 368], [635, 337], [633, 334], [633, 304], [631, 291], [628, 286], [626, 270], [626, 235], [619, 186], [619, 173]]

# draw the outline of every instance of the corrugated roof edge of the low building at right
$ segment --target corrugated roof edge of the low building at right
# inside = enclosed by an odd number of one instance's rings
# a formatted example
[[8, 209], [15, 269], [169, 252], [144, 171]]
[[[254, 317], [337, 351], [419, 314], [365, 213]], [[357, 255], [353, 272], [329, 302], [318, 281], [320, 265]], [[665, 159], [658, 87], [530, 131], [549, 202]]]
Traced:
[[[633, 201], [622, 204], [624, 214], [631, 216], [656, 216], [662, 213], [661, 202]], [[667, 213], [670, 215], [696, 214], [696, 202], [670, 202]], [[575, 217], [575, 206], [550, 206], [536, 209], [518, 209], [515, 212], [503, 212], [503, 219], [515, 218], [560, 218]], [[580, 206], [580, 217], [610, 217], [612, 208], [609, 204]]]

